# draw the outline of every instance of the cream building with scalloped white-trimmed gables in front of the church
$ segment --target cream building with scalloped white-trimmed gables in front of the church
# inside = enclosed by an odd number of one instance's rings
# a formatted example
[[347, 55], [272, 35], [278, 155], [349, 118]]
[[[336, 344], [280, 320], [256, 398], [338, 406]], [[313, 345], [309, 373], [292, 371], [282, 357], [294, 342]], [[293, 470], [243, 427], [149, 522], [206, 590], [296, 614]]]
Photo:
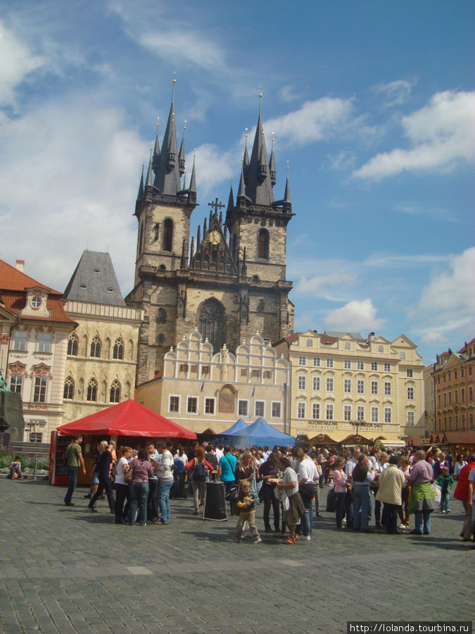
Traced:
[[289, 380], [289, 362], [258, 333], [232, 354], [226, 344], [214, 353], [194, 330], [165, 354], [163, 371], [137, 387], [137, 400], [196, 433], [218, 434], [258, 416], [289, 433]]

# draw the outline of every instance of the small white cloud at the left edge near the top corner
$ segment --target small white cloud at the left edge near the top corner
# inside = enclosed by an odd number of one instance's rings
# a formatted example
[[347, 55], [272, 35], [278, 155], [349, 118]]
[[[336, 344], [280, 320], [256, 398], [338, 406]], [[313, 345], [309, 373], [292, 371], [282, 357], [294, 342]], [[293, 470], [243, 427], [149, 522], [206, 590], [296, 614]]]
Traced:
[[28, 46], [0, 22], [0, 59], [0, 105], [15, 106], [15, 88], [41, 68], [45, 58], [32, 55]]

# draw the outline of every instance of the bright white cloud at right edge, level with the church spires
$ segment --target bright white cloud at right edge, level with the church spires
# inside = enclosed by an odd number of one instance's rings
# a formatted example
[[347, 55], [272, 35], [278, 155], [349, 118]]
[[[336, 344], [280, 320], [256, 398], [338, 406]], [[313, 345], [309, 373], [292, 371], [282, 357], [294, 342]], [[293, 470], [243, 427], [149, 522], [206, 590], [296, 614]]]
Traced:
[[475, 160], [475, 92], [434, 94], [427, 106], [404, 117], [412, 149], [377, 154], [355, 178], [381, 180], [405, 171], [450, 170], [461, 161]]

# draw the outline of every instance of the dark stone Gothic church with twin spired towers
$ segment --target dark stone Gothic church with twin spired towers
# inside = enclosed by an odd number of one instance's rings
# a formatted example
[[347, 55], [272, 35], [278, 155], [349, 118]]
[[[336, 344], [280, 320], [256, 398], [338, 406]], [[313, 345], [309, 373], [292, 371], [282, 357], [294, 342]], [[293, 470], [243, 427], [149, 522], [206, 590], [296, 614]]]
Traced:
[[[175, 89], [175, 85], [174, 85]], [[293, 332], [292, 283], [286, 280], [286, 228], [292, 217], [289, 179], [274, 199], [274, 151], [267, 155], [259, 112], [255, 138], [244, 151], [239, 189], [216, 199], [190, 235], [196, 207], [195, 164], [186, 183], [184, 138], [177, 146], [174, 96], [160, 147], [158, 134], [135, 206], [138, 220], [134, 289], [127, 305], [144, 311], [137, 385], [163, 368], [165, 353], [198, 330], [218, 352], [235, 351], [260, 332], [277, 341]]]

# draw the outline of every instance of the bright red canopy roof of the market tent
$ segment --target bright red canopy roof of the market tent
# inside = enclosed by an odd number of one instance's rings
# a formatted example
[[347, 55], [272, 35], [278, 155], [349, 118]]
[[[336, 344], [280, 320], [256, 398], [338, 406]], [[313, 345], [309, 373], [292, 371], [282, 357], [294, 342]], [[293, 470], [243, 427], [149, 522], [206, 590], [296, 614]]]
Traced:
[[196, 434], [132, 399], [58, 427], [61, 434], [187, 438]]

